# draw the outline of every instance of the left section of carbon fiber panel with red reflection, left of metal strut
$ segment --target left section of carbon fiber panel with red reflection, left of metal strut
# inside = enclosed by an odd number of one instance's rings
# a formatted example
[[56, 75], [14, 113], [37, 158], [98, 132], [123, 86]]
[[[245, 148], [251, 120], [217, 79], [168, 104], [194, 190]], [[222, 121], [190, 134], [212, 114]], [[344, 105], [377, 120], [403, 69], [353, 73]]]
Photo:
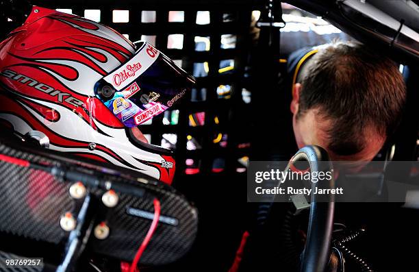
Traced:
[[[32, 159], [31, 155], [0, 147], [1, 153]], [[58, 244], [66, 238], [60, 227], [65, 212], [76, 212], [68, 184], [49, 173], [0, 160], [0, 231]]]

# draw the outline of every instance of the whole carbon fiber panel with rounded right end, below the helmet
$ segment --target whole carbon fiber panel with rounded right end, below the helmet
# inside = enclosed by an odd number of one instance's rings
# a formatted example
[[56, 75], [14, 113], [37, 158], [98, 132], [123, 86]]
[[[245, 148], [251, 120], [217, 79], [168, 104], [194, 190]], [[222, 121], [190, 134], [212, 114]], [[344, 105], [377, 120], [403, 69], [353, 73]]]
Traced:
[[[194, 207], [170, 186], [140, 175], [141, 179], [115, 169], [60, 158], [60, 153], [43, 153], [42, 150], [28, 151], [25, 147], [0, 144], [0, 153], [13, 158], [27, 160], [31, 164], [51, 167], [88, 175], [94, 179], [123, 184], [144, 190], [138, 197], [129, 190], [116, 190], [119, 197], [114, 208], [103, 205], [101, 197], [105, 189], [90, 188], [97, 206], [94, 225], [105, 222], [110, 235], [99, 240], [93, 234], [88, 240], [87, 250], [118, 260], [131, 261], [153, 218], [153, 199], [161, 203], [161, 218], [157, 230], [140, 259], [142, 264], [166, 264], [173, 262], [190, 249], [197, 231], [197, 212]], [[52, 173], [52, 172], [51, 172]], [[112, 173], [110, 175], [109, 173]], [[131, 174], [131, 173], [130, 173]], [[31, 239], [61, 243], [68, 232], [60, 227], [60, 217], [71, 211], [77, 215], [83, 199], [72, 199], [68, 188], [75, 180], [64, 180], [64, 175], [55, 177], [47, 171], [35, 170], [0, 160], [0, 231]]]

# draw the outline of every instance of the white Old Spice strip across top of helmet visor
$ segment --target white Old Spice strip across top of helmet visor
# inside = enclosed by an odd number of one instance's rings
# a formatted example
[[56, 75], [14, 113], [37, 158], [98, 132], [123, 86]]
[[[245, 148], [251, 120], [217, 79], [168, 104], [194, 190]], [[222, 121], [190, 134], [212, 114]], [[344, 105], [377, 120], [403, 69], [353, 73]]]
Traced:
[[144, 42], [142, 48], [138, 50], [131, 60], [120, 66], [113, 73], [103, 77], [103, 79], [112, 84], [116, 90], [123, 90], [144, 71], [149, 69], [159, 55], [160, 51], [152, 47], [148, 42]]

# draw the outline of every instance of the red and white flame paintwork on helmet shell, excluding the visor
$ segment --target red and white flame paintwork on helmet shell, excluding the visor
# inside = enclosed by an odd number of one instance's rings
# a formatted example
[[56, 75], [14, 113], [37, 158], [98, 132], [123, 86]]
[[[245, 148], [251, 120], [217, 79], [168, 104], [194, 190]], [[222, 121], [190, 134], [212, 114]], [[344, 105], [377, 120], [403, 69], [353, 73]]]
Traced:
[[[94, 84], [127, 62], [135, 52], [134, 45], [113, 29], [78, 16], [51, 11], [42, 20], [40, 24], [22, 26], [28, 32], [33, 27], [31, 30], [36, 35], [24, 36], [25, 43], [19, 46], [25, 44], [25, 50], [3, 50], [8, 56], [1, 71], [10, 69], [16, 75], [22, 73], [30, 80], [53, 88], [53, 92], [64, 92], [79, 99], [83, 105], [75, 107], [63, 99], [59, 101], [48, 92], [37, 90], [35, 85], [14, 79], [8, 82], [10, 86], [5, 86], [13, 96], [0, 92], [4, 105], [0, 119], [22, 135], [32, 130], [45, 132], [51, 149], [170, 180], [168, 177], [173, 171], [162, 171], [160, 167], [162, 161], [170, 158], [134, 146], [123, 124], [94, 95]], [[39, 25], [47, 25], [57, 35], [38, 32]], [[12, 38], [1, 45], [13, 43], [16, 37], [22, 38], [22, 33], [16, 29]], [[94, 149], [89, 149], [90, 143], [96, 144]]]

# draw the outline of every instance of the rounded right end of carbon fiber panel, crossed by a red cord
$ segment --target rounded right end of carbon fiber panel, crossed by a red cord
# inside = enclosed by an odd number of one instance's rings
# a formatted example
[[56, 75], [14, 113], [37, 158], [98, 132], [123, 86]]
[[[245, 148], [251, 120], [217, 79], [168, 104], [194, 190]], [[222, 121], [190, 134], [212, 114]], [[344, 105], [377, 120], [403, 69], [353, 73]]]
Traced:
[[[196, 236], [196, 211], [178, 195], [155, 190], [160, 199], [161, 215], [176, 221], [177, 225], [159, 222], [147, 250], [141, 257], [143, 264], [165, 264], [186, 254]], [[93, 238], [94, 251], [123, 260], [133, 260], [151, 225], [151, 219], [127, 213], [127, 209], [153, 214], [153, 201], [147, 198], [121, 195], [118, 205], [104, 215], [110, 227], [110, 236], [105, 240]], [[99, 223], [99, 222], [98, 222]]]

